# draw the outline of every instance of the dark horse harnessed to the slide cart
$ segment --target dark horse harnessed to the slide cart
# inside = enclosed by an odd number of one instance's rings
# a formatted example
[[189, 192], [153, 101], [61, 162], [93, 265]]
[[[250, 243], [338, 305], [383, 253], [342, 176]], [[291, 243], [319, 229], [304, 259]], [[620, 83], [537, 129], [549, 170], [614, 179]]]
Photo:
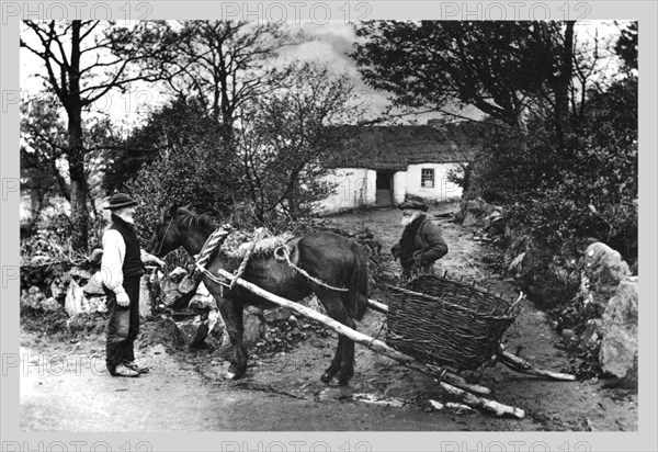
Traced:
[[[190, 256], [198, 253], [207, 237], [215, 230], [209, 217], [196, 215], [175, 205], [163, 212], [161, 223], [155, 228], [148, 252], [164, 256], [182, 246]], [[287, 242], [292, 263], [320, 281], [318, 284], [288, 265], [270, 256], [252, 256], [242, 279], [268, 292], [297, 302], [316, 294], [327, 313], [341, 324], [355, 328], [354, 319], [361, 320], [367, 303], [367, 261], [365, 252], [354, 241], [331, 233], [308, 234]], [[234, 272], [238, 264], [215, 252], [206, 269], [212, 274], [222, 268]], [[226, 324], [232, 347], [228, 376], [241, 377], [247, 370], [247, 351], [242, 342], [242, 308], [256, 305], [276, 307], [273, 303], [236, 285], [229, 290], [203, 275], [202, 281], [215, 297]], [[337, 291], [330, 287], [348, 289]], [[339, 336], [338, 349], [331, 365], [321, 381], [330, 385], [344, 385], [354, 374], [354, 342]]]

